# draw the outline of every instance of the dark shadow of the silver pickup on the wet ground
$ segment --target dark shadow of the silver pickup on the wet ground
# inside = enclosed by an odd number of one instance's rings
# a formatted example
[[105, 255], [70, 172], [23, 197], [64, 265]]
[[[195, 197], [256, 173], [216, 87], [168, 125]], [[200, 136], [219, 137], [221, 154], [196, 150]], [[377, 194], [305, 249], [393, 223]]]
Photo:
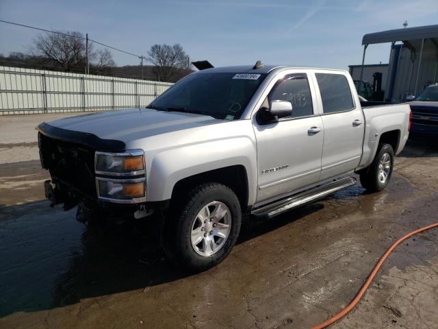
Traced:
[[[281, 228], [321, 204], [274, 220], [242, 224], [244, 243]], [[75, 220], [75, 209], [48, 202], [0, 206], [0, 317], [75, 304], [81, 299], [173, 282], [192, 274], [172, 265], [148, 225], [94, 229]], [[216, 271], [220, 271], [219, 265]]]

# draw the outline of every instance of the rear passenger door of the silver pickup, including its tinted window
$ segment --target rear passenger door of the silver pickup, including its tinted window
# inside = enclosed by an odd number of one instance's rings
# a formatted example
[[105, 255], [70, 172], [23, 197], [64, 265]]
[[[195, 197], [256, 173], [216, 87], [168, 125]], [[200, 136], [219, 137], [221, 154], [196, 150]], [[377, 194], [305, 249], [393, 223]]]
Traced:
[[351, 93], [354, 84], [346, 73], [315, 71], [320, 93], [324, 145], [320, 180], [355, 169], [361, 160], [365, 122]]

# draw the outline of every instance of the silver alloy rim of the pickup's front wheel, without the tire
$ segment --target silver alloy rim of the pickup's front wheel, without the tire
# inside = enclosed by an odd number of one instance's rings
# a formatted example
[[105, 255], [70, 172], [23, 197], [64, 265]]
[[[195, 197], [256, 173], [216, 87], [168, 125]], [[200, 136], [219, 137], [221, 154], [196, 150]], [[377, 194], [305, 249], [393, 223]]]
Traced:
[[194, 251], [201, 256], [216, 254], [231, 232], [231, 212], [222, 202], [204, 206], [192, 224], [191, 241]]

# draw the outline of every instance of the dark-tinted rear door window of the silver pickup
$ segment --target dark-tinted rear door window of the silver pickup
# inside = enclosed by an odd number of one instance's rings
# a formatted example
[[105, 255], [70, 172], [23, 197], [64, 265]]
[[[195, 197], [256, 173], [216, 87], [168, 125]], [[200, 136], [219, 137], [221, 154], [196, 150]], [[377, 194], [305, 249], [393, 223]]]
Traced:
[[316, 73], [324, 113], [344, 112], [354, 108], [350, 85], [342, 74]]

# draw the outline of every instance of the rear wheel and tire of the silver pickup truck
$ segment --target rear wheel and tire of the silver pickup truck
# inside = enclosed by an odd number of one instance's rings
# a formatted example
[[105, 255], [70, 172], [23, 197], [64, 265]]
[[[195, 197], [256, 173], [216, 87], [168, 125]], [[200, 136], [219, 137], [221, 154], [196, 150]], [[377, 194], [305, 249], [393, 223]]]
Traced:
[[369, 192], [382, 191], [391, 179], [393, 168], [394, 149], [389, 144], [379, 144], [370, 167], [359, 173], [361, 185]]

